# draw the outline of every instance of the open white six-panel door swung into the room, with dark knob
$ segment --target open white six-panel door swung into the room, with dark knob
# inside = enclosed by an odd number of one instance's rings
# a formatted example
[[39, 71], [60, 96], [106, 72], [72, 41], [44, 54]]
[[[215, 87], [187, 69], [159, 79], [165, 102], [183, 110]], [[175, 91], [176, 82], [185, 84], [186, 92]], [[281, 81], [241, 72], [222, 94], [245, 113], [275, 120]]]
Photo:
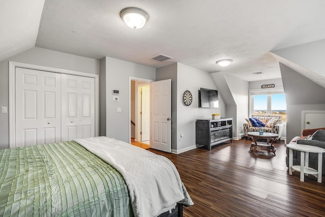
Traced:
[[151, 82], [151, 148], [171, 152], [171, 79]]

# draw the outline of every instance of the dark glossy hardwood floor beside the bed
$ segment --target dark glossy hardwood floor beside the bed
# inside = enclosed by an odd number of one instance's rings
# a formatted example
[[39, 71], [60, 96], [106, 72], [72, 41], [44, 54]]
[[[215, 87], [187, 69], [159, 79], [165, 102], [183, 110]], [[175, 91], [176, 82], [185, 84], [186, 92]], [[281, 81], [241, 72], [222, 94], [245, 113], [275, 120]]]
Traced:
[[[181, 154], [152, 152], [177, 167], [194, 205], [184, 216], [325, 216], [325, 176], [288, 175], [284, 142], [275, 144], [276, 156], [249, 151], [245, 139], [200, 147]], [[323, 159], [325, 160], [325, 159]]]

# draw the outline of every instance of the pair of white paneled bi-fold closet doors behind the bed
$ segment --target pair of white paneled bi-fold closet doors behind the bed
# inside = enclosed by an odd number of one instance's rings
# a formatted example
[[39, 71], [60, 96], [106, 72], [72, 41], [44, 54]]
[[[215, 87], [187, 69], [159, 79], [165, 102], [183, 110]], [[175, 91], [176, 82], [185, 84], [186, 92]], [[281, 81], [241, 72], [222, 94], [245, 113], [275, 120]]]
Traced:
[[16, 147], [94, 136], [94, 78], [16, 67]]

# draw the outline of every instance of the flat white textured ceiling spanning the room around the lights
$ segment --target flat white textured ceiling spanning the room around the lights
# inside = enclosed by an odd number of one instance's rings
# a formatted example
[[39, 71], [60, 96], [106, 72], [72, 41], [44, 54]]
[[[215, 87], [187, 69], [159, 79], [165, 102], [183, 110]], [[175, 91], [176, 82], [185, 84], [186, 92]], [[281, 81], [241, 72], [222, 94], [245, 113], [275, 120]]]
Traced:
[[[32, 6], [15, 4], [14, 9], [39, 14], [36, 2], [42, 1], [33, 1]], [[145, 10], [148, 23], [137, 30], [127, 27], [119, 17], [126, 7]], [[45, 0], [36, 46], [96, 59], [110, 56], [154, 68], [178, 62], [246, 81], [273, 79], [281, 74], [278, 60], [269, 51], [324, 39], [324, 9], [323, 0]], [[1, 26], [5, 22], [0, 16]], [[27, 16], [19, 19], [37, 21]], [[14, 21], [12, 25], [21, 31], [29, 26]], [[28, 29], [28, 33], [14, 34], [21, 38], [37, 34], [35, 28]], [[9, 47], [19, 45], [10, 39], [5, 42]], [[149, 59], [159, 53], [173, 59]], [[233, 63], [219, 67], [215, 62], [223, 58], [233, 59]], [[253, 75], [255, 72], [267, 77]]]

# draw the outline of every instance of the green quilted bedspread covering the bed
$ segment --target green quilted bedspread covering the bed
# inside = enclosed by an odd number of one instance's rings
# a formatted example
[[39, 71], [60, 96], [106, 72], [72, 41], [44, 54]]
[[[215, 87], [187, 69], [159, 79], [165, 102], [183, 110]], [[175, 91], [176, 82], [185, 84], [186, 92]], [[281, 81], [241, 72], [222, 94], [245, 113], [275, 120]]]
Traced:
[[0, 216], [132, 216], [126, 184], [79, 144], [0, 150]]

